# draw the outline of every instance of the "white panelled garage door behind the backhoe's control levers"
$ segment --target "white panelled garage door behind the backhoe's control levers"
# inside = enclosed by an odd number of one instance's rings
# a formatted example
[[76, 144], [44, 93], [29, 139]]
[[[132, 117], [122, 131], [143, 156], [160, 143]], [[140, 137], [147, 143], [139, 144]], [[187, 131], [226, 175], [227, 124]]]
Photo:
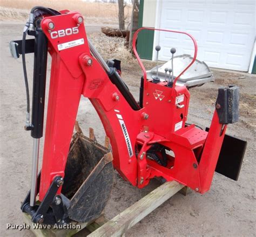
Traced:
[[[198, 43], [198, 59], [211, 67], [247, 71], [255, 39], [255, 0], [161, 0], [157, 26], [186, 31]], [[170, 48], [176, 55], [193, 55], [190, 40], [181, 35], [160, 32], [155, 44], [161, 60], [169, 60]]]

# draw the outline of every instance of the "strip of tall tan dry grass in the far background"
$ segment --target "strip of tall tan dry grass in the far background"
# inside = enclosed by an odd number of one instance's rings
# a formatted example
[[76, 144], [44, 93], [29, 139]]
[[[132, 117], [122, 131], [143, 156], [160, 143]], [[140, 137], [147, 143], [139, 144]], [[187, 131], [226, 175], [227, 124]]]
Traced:
[[[117, 24], [118, 5], [116, 3], [89, 3], [82, 0], [69, 1], [39, 1], [39, 0], [1, 0], [0, 19], [24, 20], [28, 17], [29, 9], [36, 5], [43, 5], [55, 10], [77, 10], [89, 23]], [[130, 21], [131, 6], [125, 7], [126, 23]]]

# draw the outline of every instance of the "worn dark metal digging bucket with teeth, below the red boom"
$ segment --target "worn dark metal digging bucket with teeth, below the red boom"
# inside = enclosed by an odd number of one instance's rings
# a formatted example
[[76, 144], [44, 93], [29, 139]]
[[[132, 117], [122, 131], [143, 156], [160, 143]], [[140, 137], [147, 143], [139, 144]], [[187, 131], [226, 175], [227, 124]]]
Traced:
[[[113, 187], [112, 153], [85, 137], [76, 124], [65, 168], [62, 194], [70, 200], [69, 218], [88, 222], [104, 211]], [[91, 134], [90, 138], [94, 138]]]

